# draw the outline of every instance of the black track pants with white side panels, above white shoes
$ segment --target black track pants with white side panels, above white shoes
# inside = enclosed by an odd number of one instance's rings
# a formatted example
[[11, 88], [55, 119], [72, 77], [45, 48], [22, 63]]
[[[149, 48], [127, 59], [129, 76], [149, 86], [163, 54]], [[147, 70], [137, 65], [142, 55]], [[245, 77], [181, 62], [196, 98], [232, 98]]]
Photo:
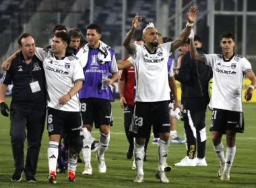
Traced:
[[197, 158], [204, 158], [205, 156], [205, 113], [206, 109], [183, 109], [184, 129], [187, 138], [187, 156], [192, 159], [195, 157], [196, 147]]

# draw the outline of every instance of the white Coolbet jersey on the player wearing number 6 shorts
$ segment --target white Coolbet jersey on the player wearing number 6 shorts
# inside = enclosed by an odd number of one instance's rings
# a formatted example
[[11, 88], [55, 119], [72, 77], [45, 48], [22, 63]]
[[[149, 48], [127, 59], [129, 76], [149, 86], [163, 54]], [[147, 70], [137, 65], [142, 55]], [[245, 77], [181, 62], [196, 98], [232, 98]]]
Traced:
[[36, 48], [36, 56], [42, 60], [47, 84], [47, 105], [62, 111], [80, 111], [78, 93], [65, 105], [59, 104], [59, 98], [66, 95], [77, 81], [84, 81], [84, 71], [79, 58], [67, 56], [57, 59], [50, 50]]

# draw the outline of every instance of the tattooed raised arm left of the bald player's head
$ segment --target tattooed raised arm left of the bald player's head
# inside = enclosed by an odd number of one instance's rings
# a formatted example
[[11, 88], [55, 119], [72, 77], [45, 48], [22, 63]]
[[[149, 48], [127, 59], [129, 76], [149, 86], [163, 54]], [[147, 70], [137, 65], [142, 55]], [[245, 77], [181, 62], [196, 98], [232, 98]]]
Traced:
[[131, 39], [133, 38], [133, 34], [135, 33], [135, 30], [139, 27], [141, 20], [142, 18], [139, 18], [139, 13], [136, 13], [132, 22], [131, 30], [128, 32], [128, 34], [125, 36], [125, 39], [123, 40], [123, 46], [125, 46], [129, 54], [131, 55], [136, 52], [136, 46], [131, 42]]

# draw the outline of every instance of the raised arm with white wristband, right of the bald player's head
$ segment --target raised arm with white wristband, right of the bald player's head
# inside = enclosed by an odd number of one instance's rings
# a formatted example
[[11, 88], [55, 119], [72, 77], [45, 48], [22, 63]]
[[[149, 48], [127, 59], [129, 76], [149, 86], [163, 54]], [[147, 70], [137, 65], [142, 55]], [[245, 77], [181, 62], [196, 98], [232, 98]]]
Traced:
[[176, 50], [177, 48], [179, 48], [179, 46], [185, 44], [185, 42], [187, 41], [187, 39], [189, 38], [189, 34], [193, 28], [194, 22], [195, 22], [195, 18], [197, 17], [197, 7], [191, 7], [189, 9], [189, 12], [187, 13], [187, 25], [185, 30], [183, 30], [183, 32], [181, 33], [181, 35], [172, 42], [172, 47], [171, 47], [171, 51]]

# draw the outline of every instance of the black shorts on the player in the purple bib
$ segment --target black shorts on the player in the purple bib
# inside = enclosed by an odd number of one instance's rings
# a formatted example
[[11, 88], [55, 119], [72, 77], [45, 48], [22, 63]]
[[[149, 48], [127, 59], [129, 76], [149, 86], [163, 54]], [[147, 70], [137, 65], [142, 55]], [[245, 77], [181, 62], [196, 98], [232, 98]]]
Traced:
[[100, 128], [100, 125], [110, 125], [111, 121], [113, 122], [109, 100], [89, 98], [80, 99], [80, 103], [84, 125], [95, 124], [95, 128]]

